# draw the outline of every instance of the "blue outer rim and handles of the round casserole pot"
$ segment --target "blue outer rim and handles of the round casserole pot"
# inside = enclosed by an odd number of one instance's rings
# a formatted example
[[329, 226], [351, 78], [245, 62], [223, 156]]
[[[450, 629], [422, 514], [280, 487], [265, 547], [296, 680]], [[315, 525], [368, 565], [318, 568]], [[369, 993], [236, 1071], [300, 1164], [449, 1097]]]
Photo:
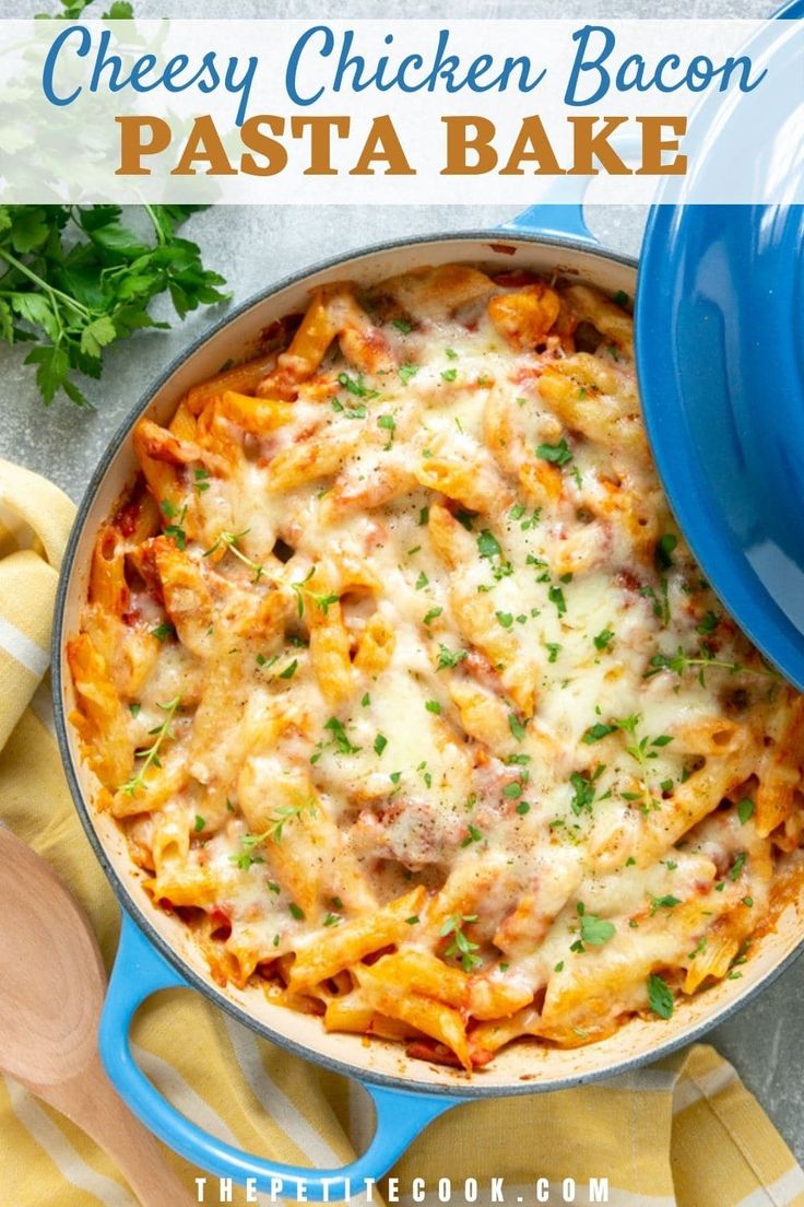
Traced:
[[[523, 223], [522, 226], [520, 223]], [[212, 336], [227, 327], [234, 320], [247, 313], [252, 307], [272, 297], [280, 290], [289, 285], [295, 285], [324, 269], [333, 268], [346, 262], [369, 258], [380, 252], [387, 252], [410, 246], [426, 246], [428, 244], [480, 241], [486, 244], [499, 244], [510, 240], [518, 244], [534, 244], [554, 247], [561, 251], [582, 251], [595, 255], [609, 262], [624, 264], [630, 268], [636, 267], [636, 262], [628, 256], [618, 255], [603, 247], [588, 232], [583, 222], [581, 206], [550, 205], [534, 206], [527, 210], [518, 218], [505, 227], [477, 231], [446, 232], [428, 235], [418, 235], [403, 240], [388, 240], [378, 243], [347, 256], [338, 256], [305, 268], [303, 272], [286, 276], [275, 282], [269, 288], [250, 298], [231, 313], [223, 316], [217, 323], [210, 327], [201, 337], [194, 340], [188, 348], [180, 352], [160, 374], [160, 377], [141, 396], [139, 402], [131, 408], [117, 433], [104, 453], [86, 494], [78, 506], [76, 520], [70, 533], [70, 540], [64, 555], [59, 587], [55, 602], [55, 620], [53, 629], [52, 665], [53, 665], [53, 695], [55, 707], [55, 729], [70, 791], [76, 804], [78, 816], [101, 864], [107, 880], [110, 881], [115, 896], [123, 912], [123, 929], [121, 945], [116, 960], [115, 970], [110, 981], [110, 992], [101, 1021], [101, 1054], [110, 1079], [129, 1103], [131, 1109], [142, 1121], [154, 1131], [169, 1145], [175, 1148], [188, 1160], [194, 1161], [212, 1173], [228, 1176], [242, 1182], [247, 1177], [257, 1177], [258, 1185], [265, 1186], [271, 1178], [278, 1177], [288, 1182], [304, 1179], [307, 1195], [311, 1200], [318, 1201], [324, 1194], [324, 1183], [335, 1178], [344, 1178], [350, 1171], [357, 1171], [359, 1176], [380, 1177], [398, 1159], [404, 1148], [418, 1132], [427, 1126], [436, 1115], [451, 1107], [462, 1103], [492, 1097], [510, 1097], [515, 1095], [532, 1095], [558, 1089], [567, 1089], [598, 1081], [629, 1069], [638, 1068], [645, 1063], [658, 1060], [679, 1048], [686, 1046], [705, 1034], [714, 1026], [723, 1022], [727, 1018], [741, 1009], [747, 1002], [776, 979], [804, 950], [802, 944], [792, 951], [784, 961], [769, 969], [761, 981], [753, 985], [747, 992], [733, 1003], [722, 1005], [711, 1019], [703, 1020], [694, 1028], [682, 1037], [657, 1043], [657, 1045], [642, 1056], [620, 1061], [616, 1066], [603, 1072], [592, 1072], [575, 1077], [561, 1078], [545, 1083], [522, 1083], [511, 1085], [483, 1086], [469, 1085], [430, 1085], [416, 1081], [410, 1078], [393, 1077], [386, 1073], [377, 1073], [369, 1069], [357, 1068], [346, 1061], [339, 1061], [331, 1056], [316, 1053], [303, 1044], [288, 1038], [281, 1032], [274, 1031], [264, 1024], [253, 1019], [246, 1010], [235, 1003], [219, 997], [215, 990], [201, 979], [176, 951], [163, 939], [154, 928], [147, 915], [131, 900], [124, 882], [118, 876], [115, 867], [108, 859], [94, 826], [90, 820], [89, 809], [83, 797], [77, 772], [72, 763], [72, 754], [68, 736], [68, 723], [64, 710], [64, 678], [61, 667], [61, 651], [65, 641], [65, 608], [70, 589], [70, 581], [75, 566], [76, 553], [80, 538], [83, 533], [84, 524], [95, 495], [102, 479], [115, 461], [117, 454], [128, 439], [131, 427], [137, 418], [147, 409], [151, 400], [158, 390], [169, 380], [176, 369], [193, 354], [195, 354]], [[223, 1009], [237, 1022], [257, 1032], [277, 1046], [293, 1053], [294, 1055], [316, 1063], [334, 1073], [340, 1073], [358, 1080], [372, 1097], [376, 1110], [376, 1131], [371, 1145], [359, 1158], [353, 1166], [335, 1171], [315, 1171], [301, 1167], [281, 1166], [247, 1154], [215, 1139], [200, 1129], [195, 1127], [186, 1116], [175, 1110], [140, 1072], [134, 1062], [129, 1049], [129, 1025], [137, 1005], [153, 992], [165, 987], [190, 987], [195, 989], [215, 1005]], [[658, 1032], [657, 1032], [658, 1034]], [[482, 1074], [481, 1074], [482, 1075]], [[364, 1164], [368, 1162], [368, 1164]], [[370, 1168], [369, 1168], [370, 1164]], [[354, 1176], [354, 1173], [353, 1173]], [[287, 1191], [284, 1191], [287, 1193]], [[334, 1190], [330, 1190], [330, 1194]]]

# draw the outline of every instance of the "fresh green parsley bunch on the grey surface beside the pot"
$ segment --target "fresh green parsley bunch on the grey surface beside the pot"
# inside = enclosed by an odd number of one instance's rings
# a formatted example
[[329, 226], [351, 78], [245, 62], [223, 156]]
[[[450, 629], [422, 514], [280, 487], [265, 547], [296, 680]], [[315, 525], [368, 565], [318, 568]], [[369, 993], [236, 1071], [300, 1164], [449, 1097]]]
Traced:
[[148, 314], [158, 295], [166, 291], [182, 319], [229, 297], [198, 245], [176, 234], [206, 206], [143, 209], [152, 238], [124, 226], [119, 205], [0, 205], [0, 337], [36, 342], [25, 363], [36, 366], [45, 403], [63, 390], [88, 406], [75, 374], [99, 378], [104, 349], [115, 340], [141, 327], [169, 327]]

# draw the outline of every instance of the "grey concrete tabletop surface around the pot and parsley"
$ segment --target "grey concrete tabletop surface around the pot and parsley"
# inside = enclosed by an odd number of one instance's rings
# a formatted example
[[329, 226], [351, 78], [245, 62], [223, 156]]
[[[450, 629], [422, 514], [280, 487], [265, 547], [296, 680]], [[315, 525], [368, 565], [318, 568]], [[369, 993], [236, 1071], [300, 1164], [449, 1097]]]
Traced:
[[[48, 0], [4, 0], [2, 16], [22, 17], [53, 7]], [[95, 5], [100, 10], [101, 0]], [[693, 0], [681, 7], [673, 0], [567, 0], [563, 17], [761, 17], [773, 4], [763, 0]], [[381, 0], [352, 0], [334, 6], [316, 0], [135, 0], [137, 16], [203, 17], [378, 17]], [[89, 13], [88, 13], [89, 14]], [[433, 16], [427, 0], [407, 0], [404, 16]], [[557, 16], [552, 0], [445, 0], [438, 16], [547, 17]], [[493, 186], [489, 185], [489, 191]], [[510, 209], [488, 206], [370, 205], [293, 209], [221, 208], [195, 216], [187, 227], [201, 243], [207, 262], [224, 273], [234, 301], [242, 301], [272, 280], [316, 260], [327, 258], [393, 235], [493, 226], [512, 216]], [[635, 208], [593, 208], [589, 223], [614, 249], [636, 253], [645, 211]], [[190, 316], [170, 332], [149, 332], [113, 349], [100, 383], [87, 393], [95, 406], [81, 412], [68, 401], [45, 409], [36, 396], [33, 372], [22, 363], [24, 351], [0, 345], [0, 456], [19, 461], [59, 483], [75, 500], [110, 436], [148, 381], [174, 355], [209, 326], [221, 308]], [[799, 961], [753, 1004], [711, 1033], [717, 1049], [736, 1066], [798, 1159], [804, 1161], [804, 961]]]

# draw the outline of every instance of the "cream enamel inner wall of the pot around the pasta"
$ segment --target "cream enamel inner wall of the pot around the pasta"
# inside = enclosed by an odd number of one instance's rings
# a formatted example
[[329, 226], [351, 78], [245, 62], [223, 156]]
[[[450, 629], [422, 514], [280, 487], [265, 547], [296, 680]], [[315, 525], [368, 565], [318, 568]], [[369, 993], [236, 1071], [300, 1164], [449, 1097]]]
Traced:
[[[568, 275], [579, 275], [611, 293], [618, 290], [624, 290], [629, 296], [634, 293], [635, 270], [628, 264], [609, 260], [603, 253], [532, 244], [516, 238], [509, 239], [503, 234], [493, 241], [447, 238], [369, 252], [323, 269], [254, 303], [188, 356], [153, 396], [148, 413], [158, 420], [166, 420], [188, 386], [212, 377], [227, 360], [241, 360], [253, 348], [264, 327], [286, 314], [304, 310], [310, 290], [323, 281], [351, 279], [369, 282], [417, 266], [450, 262], [486, 264], [495, 272], [529, 268], [550, 274], [558, 269]], [[66, 597], [66, 635], [78, 628], [98, 526], [135, 472], [134, 455], [125, 442], [110, 465], [86, 515]], [[63, 672], [65, 711], [69, 713], [71, 688], [65, 664]], [[70, 734], [70, 744], [78, 780], [84, 795], [92, 800], [96, 785], [81, 764], [74, 734]], [[317, 1018], [269, 1004], [258, 986], [246, 991], [219, 989], [211, 980], [205, 961], [187, 928], [176, 917], [154, 909], [141, 887], [143, 874], [131, 864], [125, 840], [115, 821], [108, 814], [93, 812], [93, 824], [124, 891], [166, 945], [209, 986], [213, 999], [234, 1004], [247, 1016], [243, 1021], [251, 1020], [258, 1027], [286, 1037], [307, 1049], [312, 1057], [321, 1056], [348, 1066], [358, 1074], [370, 1072], [407, 1083], [416, 1081], [423, 1088], [440, 1086], [464, 1094], [482, 1089], [497, 1089], [498, 1092], [536, 1090], [616, 1072], [636, 1060], [656, 1055], [657, 1050], [667, 1045], [683, 1042], [704, 1026], [712, 1026], [770, 976], [804, 939], [804, 900], [799, 900], [786, 908], [774, 933], [764, 935], [753, 945], [751, 958], [740, 969], [739, 980], [721, 981], [714, 989], [680, 1002], [669, 1021], [634, 1019], [609, 1039], [573, 1050], [541, 1048], [534, 1042], [517, 1043], [499, 1053], [491, 1066], [474, 1073], [469, 1083], [462, 1072], [409, 1060], [399, 1044], [376, 1039], [366, 1044], [362, 1036], [328, 1034]]]

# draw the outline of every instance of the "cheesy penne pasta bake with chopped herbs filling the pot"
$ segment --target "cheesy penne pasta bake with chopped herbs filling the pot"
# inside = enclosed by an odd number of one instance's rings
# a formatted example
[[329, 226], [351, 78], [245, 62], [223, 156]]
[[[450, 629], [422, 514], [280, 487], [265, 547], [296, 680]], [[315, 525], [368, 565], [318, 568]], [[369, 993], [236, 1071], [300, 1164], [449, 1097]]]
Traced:
[[74, 723], [219, 984], [471, 1071], [773, 927], [804, 704], [674, 524], [632, 331], [523, 270], [329, 284], [137, 422]]

